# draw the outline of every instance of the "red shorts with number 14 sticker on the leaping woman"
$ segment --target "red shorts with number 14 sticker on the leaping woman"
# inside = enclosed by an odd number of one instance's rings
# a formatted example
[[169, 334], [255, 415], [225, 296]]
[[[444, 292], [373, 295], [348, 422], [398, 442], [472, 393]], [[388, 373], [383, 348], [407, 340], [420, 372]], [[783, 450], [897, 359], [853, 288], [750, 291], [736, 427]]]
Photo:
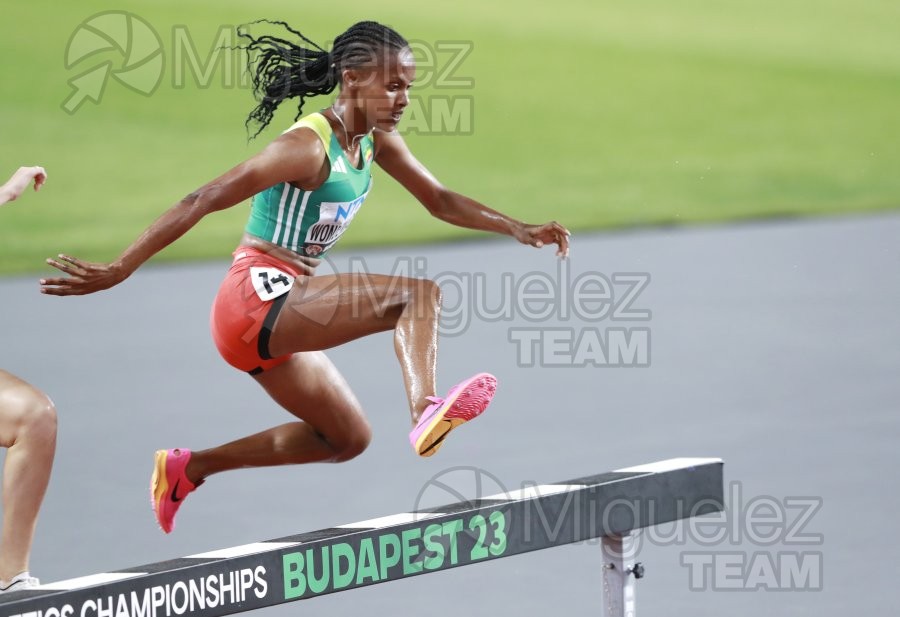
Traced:
[[254, 248], [239, 246], [210, 313], [213, 341], [231, 366], [256, 375], [291, 356], [269, 355], [269, 337], [296, 268]]

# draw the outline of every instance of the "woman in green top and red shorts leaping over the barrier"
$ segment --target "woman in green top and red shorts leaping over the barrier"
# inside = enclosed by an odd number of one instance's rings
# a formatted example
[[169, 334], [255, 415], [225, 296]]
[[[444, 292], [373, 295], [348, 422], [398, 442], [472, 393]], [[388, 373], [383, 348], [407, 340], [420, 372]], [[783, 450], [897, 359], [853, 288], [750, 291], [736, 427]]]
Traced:
[[[260, 99], [248, 126], [261, 131], [275, 109], [332, 92], [334, 103], [301, 118], [261, 153], [194, 191], [165, 212], [111, 264], [61, 255], [48, 263], [66, 275], [41, 281], [53, 295], [87, 294], [125, 280], [201, 218], [253, 198], [250, 220], [214, 301], [212, 335], [224, 359], [248, 372], [301, 421], [212, 448], [160, 450], [151, 483], [165, 532], [184, 497], [208, 476], [240, 467], [346, 461], [368, 445], [371, 430], [350, 387], [322, 350], [385, 330], [394, 348], [412, 415], [410, 443], [431, 456], [447, 433], [478, 416], [496, 380], [479, 373], [445, 398], [435, 396], [440, 291], [429, 280], [369, 274], [314, 276], [371, 188], [374, 161], [435, 217], [453, 225], [507, 234], [523, 244], [558, 245], [560, 224], [527, 225], [442, 186], [397, 133], [416, 66], [394, 30], [360, 22], [331, 51], [300, 39], [244, 34], [255, 53]], [[256, 134], [259, 134], [257, 131]]]

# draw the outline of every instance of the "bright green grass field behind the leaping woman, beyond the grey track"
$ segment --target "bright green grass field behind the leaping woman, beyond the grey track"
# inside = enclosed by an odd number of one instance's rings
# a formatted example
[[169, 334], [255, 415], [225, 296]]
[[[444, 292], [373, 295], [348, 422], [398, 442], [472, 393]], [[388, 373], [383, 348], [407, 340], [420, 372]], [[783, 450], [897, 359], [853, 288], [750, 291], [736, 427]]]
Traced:
[[[420, 130], [408, 140], [446, 185], [520, 219], [583, 230], [900, 206], [896, 1], [410, 6], [7, 3], [0, 173], [5, 180], [19, 165], [42, 164], [50, 178], [41, 193], [0, 210], [0, 273], [41, 271], [58, 252], [114, 257], [165, 208], [286, 128], [295, 108], [247, 142], [253, 101], [239, 83], [238, 57], [213, 50], [222, 26], [262, 17], [322, 44], [359, 19], [432, 47], [471, 43], [450, 76], [471, 87], [436, 87], [453, 53], [438, 51], [433, 63], [422, 56], [430, 84], [416, 90], [421, 113], [407, 128]], [[144, 96], [111, 79], [99, 103], [66, 113], [69, 80], [103, 61], [123, 66], [110, 50], [66, 68], [79, 25], [111, 10], [134, 13], [158, 33], [162, 81]], [[180, 53], [177, 33], [192, 41], [193, 56]], [[190, 70], [192, 59], [216, 58], [205, 78]], [[458, 122], [428, 114], [435, 101], [458, 105]], [[472, 130], [460, 134], [468, 120]], [[386, 174], [376, 172], [375, 182], [339, 250], [471, 235], [431, 219]], [[226, 258], [246, 215], [239, 205], [209, 217], [160, 258]]]

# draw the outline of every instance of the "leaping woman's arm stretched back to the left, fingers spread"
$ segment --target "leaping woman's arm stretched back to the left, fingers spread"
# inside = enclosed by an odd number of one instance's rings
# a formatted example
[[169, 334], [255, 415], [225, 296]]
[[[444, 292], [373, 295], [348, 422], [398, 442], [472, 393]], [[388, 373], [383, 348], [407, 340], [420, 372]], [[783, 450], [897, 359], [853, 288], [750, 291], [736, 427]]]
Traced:
[[[315, 188], [327, 178], [325, 150], [315, 133], [294, 130], [262, 152], [200, 187], [162, 214], [122, 255], [109, 264], [68, 255], [47, 263], [67, 276], [41, 279], [41, 293], [84, 295], [124, 281], [153, 255], [172, 244], [207, 214], [237, 205], [280, 182]], [[324, 173], [324, 176], [323, 176]]]

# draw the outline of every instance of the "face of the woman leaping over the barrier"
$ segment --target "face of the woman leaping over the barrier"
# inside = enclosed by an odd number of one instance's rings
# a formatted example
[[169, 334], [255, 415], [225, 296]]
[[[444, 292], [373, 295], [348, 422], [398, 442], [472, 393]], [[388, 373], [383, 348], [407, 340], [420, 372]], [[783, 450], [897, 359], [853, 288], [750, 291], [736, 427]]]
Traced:
[[409, 89], [416, 78], [416, 61], [406, 48], [385, 53], [374, 69], [355, 71], [355, 98], [369, 129], [390, 132], [397, 128], [409, 105]]

